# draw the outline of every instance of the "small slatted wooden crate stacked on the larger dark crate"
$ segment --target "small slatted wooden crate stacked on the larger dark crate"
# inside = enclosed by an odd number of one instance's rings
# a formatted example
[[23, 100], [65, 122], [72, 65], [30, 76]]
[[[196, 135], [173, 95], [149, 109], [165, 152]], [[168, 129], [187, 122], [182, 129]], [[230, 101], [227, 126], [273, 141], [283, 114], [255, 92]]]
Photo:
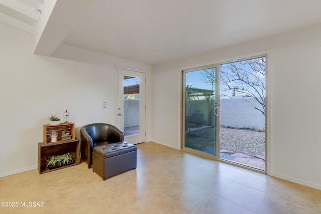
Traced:
[[[51, 133], [53, 131], [56, 131], [58, 136], [57, 136], [57, 142], [67, 142], [67, 141], [72, 141], [75, 140], [75, 124], [74, 123], [62, 123], [59, 125], [49, 125], [46, 124], [44, 125], [44, 143], [52, 143], [51, 141]], [[71, 134], [71, 139], [70, 140], [61, 140], [61, 135], [62, 131], [69, 131]], [[56, 142], [55, 142], [56, 143]]]

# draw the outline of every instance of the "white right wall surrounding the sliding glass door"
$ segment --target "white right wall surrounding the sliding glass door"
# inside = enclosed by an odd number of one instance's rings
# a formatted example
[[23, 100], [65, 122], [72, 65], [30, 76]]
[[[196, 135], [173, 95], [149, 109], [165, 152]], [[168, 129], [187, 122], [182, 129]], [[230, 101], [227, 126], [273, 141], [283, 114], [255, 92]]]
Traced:
[[321, 189], [321, 25], [153, 66], [152, 141], [180, 148], [182, 68], [258, 53], [268, 53], [267, 172]]

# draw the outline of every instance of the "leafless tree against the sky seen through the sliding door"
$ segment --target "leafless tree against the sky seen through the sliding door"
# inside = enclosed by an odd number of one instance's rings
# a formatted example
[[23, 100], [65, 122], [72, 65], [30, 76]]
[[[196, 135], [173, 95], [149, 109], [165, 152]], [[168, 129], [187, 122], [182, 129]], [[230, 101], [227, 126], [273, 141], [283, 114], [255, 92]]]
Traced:
[[[213, 86], [216, 70], [205, 69], [202, 77], [204, 83]], [[257, 108], [254, 103], [247, 101], [265, 115], [265, 57], [221, 65], [220, 83], [225, 86], [221, 91], [233, 91], [232, 96], [239, 92], [246, 97], [253, 97], [262, 108]]]

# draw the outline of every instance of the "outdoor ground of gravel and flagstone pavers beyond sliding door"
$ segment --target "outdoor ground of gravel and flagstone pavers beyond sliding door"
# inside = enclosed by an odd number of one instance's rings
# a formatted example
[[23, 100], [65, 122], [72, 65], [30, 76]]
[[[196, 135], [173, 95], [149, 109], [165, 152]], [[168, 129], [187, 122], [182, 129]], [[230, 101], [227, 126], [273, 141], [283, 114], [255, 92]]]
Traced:
[[[216, 154], [215, 128], [193, 127], [186, 132], [186, 147]], [[220, 127], [220, 159], [265, 170], [265, 133], [249, 129]]]

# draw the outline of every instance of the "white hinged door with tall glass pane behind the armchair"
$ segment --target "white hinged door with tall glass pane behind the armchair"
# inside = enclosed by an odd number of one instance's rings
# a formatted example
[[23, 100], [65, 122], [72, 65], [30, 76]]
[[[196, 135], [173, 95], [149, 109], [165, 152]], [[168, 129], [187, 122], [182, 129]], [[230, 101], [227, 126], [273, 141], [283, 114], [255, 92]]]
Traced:
[[117, 68], [117, 127], [125, 141], [145, 142], [145, 74]]

